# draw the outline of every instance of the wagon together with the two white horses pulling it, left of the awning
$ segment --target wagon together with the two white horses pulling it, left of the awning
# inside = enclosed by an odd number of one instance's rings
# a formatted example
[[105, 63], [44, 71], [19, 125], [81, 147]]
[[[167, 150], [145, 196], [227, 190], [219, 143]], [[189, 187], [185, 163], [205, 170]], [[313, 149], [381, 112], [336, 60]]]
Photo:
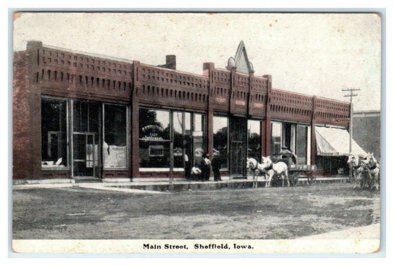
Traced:
[[309, 185], [313, 185], [316, 181], [315, 172], [316, 165], [296, 164], [294, 163], [294, 154], [277, 153], [270, 157], [262, 157], [262, 164], [257, 163], [256, 159], [248, 158], [247, 167], [252, 173], [253, 187], [257, 187], [257, 177], [265, 176], [265, 186], [269, 187], [271, 181], [282, 179], [282, 186], [285, 185], [285, 178], [287, 184], [290, 186], [297, 186], [298, 179], [305, 177]]

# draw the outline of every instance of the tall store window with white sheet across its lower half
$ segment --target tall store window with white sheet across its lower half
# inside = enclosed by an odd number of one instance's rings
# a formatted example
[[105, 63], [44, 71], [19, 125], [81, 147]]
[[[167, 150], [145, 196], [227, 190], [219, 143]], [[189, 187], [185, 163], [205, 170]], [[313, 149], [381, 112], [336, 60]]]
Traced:
[[127, 107], [104, 104], [104, 168], [127, 168]]

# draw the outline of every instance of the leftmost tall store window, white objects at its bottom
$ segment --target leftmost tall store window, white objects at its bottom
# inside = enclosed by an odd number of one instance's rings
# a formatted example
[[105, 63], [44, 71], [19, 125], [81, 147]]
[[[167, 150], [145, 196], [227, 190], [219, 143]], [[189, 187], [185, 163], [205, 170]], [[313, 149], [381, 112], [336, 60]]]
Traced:
[[67, 166], [67, 101], [41, 99], [41, 166], [62, 169]]

